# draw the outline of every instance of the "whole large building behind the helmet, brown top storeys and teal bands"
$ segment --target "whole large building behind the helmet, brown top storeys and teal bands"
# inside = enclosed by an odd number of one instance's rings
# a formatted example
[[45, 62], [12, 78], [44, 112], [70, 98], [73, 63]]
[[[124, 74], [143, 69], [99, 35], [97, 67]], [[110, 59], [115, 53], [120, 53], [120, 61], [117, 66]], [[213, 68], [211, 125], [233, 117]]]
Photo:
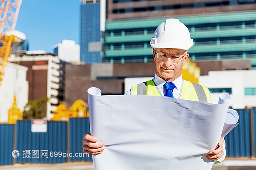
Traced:
[[103, 62], [151, 62], [149, 41], [177, 18], [190, 30], [192, 61], [251, 60], [256, 69], [255, 1], [108, 1]]

